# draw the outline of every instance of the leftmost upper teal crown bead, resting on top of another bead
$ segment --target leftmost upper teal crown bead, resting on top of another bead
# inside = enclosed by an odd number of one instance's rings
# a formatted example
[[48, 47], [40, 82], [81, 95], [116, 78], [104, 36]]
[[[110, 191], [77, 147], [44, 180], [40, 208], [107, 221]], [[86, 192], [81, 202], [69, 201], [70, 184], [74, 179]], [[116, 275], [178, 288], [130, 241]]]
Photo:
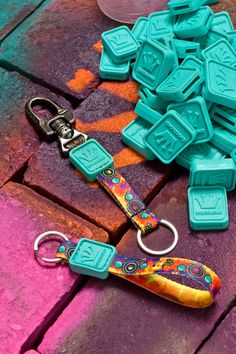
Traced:
[[102, 43], [116, 64], [122, 64], [136, 57], [139, 43], [126, 26], [113, 28], [102, 33]]

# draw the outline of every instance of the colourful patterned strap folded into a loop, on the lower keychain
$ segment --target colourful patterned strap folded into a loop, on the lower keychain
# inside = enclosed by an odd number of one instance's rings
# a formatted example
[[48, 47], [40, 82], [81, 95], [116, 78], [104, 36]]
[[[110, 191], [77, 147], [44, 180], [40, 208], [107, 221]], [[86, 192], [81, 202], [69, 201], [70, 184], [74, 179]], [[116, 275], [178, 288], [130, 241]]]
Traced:
[[[64, 241], [56, 257], [68, 262], [77, 243]], [[131, 258], [117, 255], [109, 272], [156, 295], [191, 308], [210, 306], [220, 289], [219, 277], [205, 265], [183, 258]], [[182, 285], [163, 275], [178, 275], [205, 290]]]

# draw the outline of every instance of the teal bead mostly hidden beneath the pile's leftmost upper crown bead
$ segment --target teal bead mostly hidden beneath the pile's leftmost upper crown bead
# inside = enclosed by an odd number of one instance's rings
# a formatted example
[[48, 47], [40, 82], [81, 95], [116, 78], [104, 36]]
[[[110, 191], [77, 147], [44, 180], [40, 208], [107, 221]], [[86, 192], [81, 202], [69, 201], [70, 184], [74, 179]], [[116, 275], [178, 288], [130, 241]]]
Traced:
[[130, 62], [113, 63], [111, 57], [103, 49], [100, 61], [100, 77], [105, 80], [126, 81], [129, 78]]

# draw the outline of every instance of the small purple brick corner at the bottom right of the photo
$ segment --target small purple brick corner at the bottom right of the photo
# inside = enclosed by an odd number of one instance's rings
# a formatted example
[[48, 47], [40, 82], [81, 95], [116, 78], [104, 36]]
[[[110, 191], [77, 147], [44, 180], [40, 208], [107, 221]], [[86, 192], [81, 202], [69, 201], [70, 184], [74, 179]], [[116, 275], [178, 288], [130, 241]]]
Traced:
[[234, 354], [236, 348], [236, 308], [216, 329], [209, 341], [199, 351], [199, 354]]

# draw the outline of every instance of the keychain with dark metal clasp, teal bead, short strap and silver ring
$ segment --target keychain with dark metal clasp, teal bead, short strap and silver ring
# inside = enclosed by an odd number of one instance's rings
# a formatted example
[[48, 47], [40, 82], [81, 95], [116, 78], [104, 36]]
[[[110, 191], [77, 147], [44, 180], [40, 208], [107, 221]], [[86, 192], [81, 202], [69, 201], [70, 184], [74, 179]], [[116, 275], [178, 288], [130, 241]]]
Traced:
[[[33, 108], [40, 105], [50, 109], [54, 116], [45, 120], [34, 113]], [[97, 180], [115, 199], [125, 214], [138, 229], [137, 242], [147, 254], [161, 256], [171, 252], [178, 242], [176, 228], [167, 220], [158, 218], [147, 209], [142, 199], [136, 194], [129, 183], [117, 172], [113, 166], [112, 156], [94, 139], [89, 139], [72, 127], [75, 120], [55, 102], [45, 97], [35, 97], [26, 103], [28, 118], [39, 128], [46, 137], [57, 136], [63, 154], [69, 154], [71, 163], [89, 180]], [[159, 225], [169, 228], [174, 241], [165, 250], [152, 250], [142, 241], [142, 235], [150, 233]]]

